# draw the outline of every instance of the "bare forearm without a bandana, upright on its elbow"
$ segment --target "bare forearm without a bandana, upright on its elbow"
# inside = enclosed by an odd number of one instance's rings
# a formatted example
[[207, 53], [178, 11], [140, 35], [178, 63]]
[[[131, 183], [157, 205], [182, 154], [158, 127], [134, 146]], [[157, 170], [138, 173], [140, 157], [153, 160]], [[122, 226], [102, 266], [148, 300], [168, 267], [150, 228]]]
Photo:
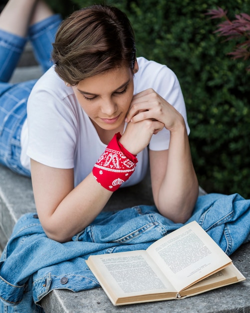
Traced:
[[185, 222], [192, 214], [198, 192], [188, 135], [183, 125], [171, 131], [166, 171], [155, 200], [164, 216], [175, 222]]

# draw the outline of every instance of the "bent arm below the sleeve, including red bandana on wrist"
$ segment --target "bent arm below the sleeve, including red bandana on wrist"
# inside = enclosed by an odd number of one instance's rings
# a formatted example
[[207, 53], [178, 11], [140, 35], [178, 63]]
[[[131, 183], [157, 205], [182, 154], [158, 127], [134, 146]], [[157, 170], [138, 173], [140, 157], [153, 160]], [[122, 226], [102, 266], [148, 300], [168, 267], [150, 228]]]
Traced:
[[31, 160], [37, 212], [48, 237], [70, 240], [100, 213], [112, 193], [134, 172], [135, 155], [116, 133], [92, 171], [74, 187], [74, 169], [49, 167]]

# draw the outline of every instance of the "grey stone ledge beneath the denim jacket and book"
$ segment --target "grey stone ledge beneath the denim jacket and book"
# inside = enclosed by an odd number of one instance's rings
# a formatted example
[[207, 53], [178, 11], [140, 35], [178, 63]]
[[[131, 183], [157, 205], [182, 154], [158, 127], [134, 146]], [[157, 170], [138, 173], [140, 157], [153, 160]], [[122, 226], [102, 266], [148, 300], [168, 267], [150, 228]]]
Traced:
[[[136, 204], [152, 204], [149, 176], [130, 190], [117, 190], [105, 207], [113, 210]], [[130, 194], [128, 196], [128, 194]], [[31, 180], [0, 166], [0, 246], [4, 246], [16, 220], [26, 212], [34, 212]], [[46, 313], [152, 312], [171, 313], [247, 313], [250, 312], [250, 243], [242, 245], [233, 261], [247, 280], [186, 299], [113, 306], [102, 288], [74, 293], [53, 290], [41, 301]]]

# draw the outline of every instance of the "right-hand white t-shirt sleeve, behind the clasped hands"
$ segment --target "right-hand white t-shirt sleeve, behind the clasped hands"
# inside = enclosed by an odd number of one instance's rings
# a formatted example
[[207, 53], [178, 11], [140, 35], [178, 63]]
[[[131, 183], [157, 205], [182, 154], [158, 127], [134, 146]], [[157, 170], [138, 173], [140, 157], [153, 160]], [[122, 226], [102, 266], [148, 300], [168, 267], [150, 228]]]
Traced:
[[[142, 58], [142, 66], [140, 82], [138, 83], [139, 89], [144, 90], [146, 88], [153, 88], [158, 94], [172, 104], [183, 116], [188, 134], [190, 128], [187, 121], [187, 112], [184, 102], [181, 86], [176, 74], [166, 65], [159, 64], [155, 61], [147, 61]], [[139, 77], [138, 77], [139, 78]], [[141, 82], [144, 81], [142, 85]], [[141, 85], [140, 85], [141, 84]], [[166, 150], [169, 148], [170, 131], [163, 128], [157, 134], [154, 134], [150, 140], [149, 148], [151, 150]]]

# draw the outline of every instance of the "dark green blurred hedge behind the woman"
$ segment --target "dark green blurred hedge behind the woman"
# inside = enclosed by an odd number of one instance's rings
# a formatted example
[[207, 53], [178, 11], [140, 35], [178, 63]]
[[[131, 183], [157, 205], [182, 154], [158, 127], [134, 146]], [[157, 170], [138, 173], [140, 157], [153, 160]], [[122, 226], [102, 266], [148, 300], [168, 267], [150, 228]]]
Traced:
[[[234, 40], [214, 31], [217, 5], [250, 14], [250, 0], [50, 0], [63, 16], [94, 3], [125, 11], [136, 34], [137, 56], [177, 74], [186, 101], [190, 144], [200, 185], [207, 192], [250, 198], [250, 72], [248, 61], [227, 55]], [[114, 38], [115, 39], [115, 38]]]

